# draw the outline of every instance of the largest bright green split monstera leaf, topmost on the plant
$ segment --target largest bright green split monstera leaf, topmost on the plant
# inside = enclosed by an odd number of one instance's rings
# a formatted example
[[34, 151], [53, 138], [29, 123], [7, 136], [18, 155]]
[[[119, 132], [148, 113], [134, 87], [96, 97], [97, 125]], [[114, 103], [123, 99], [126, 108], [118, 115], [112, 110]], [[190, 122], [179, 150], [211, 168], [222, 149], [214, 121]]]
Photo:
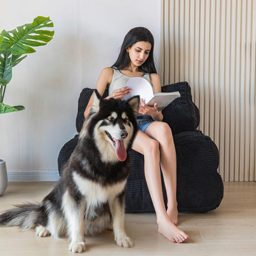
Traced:
[[32, 47], [45, 45], [52, 40], [54, 31], [43, 30], [52, 28], [53, 23], [49, 17], [38, 16], [32, 24], [24, 24], [12, 31], [1, 32], [4, 37], [0, 42], [0, 51], [11, 49], [13, 55], [22, 55], [35, 52]]

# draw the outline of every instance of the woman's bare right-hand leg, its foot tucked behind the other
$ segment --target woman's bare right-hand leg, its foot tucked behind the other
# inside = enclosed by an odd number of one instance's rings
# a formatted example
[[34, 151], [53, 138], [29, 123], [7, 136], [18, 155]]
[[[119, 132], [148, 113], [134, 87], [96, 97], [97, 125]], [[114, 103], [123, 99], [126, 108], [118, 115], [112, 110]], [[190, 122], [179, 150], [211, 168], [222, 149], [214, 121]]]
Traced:
[[167, 214], [172, 223], [177, 225], [177, 160], [172, 130], [164, 122], [154, 122], [147, 127], [145, 133], [159, 142], [161, 170], [168, 199]]

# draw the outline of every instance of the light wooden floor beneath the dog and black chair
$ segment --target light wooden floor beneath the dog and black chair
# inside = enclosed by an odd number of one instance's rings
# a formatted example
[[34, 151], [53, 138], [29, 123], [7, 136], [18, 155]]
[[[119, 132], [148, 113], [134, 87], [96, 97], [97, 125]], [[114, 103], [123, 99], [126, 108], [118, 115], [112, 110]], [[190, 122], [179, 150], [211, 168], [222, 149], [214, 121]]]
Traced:
[[[0, 196], [0, 212], [13, 204], [44, 198], [54, 182], [12, 182]], [[189, 234], [186, 243], [174, 244], [157, 234], [155, 214], [125, 214], [127, 234], [133, 248], [120, 248], [112, 232], [86, 238], [82, 255], [256, 255], [256, 182], [225, 182], [224, 199], [218, 209], [206, 214], [179, 214], [179, 227]], [[35, 236], [35, 230], [0, 228], [2, 256], [65, 256], [68, 241]]]

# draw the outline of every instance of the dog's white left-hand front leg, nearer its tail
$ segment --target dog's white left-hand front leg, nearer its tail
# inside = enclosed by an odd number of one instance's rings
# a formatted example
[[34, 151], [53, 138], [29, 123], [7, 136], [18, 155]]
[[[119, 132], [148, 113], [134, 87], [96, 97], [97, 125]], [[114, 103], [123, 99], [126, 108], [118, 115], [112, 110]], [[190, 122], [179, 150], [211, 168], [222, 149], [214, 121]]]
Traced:
[[68, 249], [71, 252], [83, 252], [85, 250], [84, 243], [84, 211], [85, 203], [83, 201], [76, 204], [71, 196], [66, 193], [63, 198], [63, 209], [67, 220], [68, 236], [71, 243]]

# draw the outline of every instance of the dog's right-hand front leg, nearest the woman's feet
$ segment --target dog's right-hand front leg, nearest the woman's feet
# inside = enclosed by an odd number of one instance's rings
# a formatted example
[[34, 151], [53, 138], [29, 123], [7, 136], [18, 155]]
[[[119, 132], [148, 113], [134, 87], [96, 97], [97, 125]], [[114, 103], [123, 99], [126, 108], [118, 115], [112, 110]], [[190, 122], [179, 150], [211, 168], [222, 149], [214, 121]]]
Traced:
[[115, 198], [110, 205], [110, 211], [113, 219], [113, 231], [116, 244], [129, 248], [133, 246], [132, 239], [127, 237], [124, 229], [124, 195]]

